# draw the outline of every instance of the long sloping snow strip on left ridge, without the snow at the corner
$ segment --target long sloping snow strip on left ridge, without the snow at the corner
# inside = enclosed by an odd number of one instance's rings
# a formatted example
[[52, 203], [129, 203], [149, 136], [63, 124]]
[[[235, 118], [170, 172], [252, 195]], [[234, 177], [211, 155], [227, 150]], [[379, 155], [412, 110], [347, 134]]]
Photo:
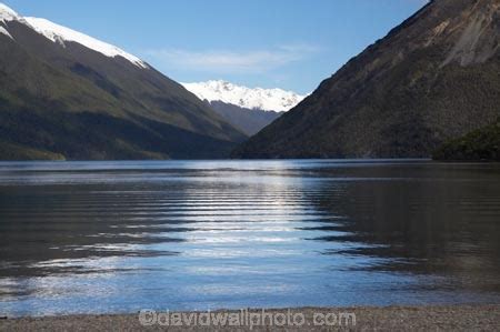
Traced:
[[46, 19], [39, 18], [24, 18], [24, 19], [38, 33], [43, 34], [46, 38], [50, 39], [53, 42], [59, 42], [61, 46], [64, 46], [64, 41], [78, 42], [89, 49], [92, 49], [99, 53], [104, 54], [106, 57], [110, 58], [122, 57], [138, 67], [148, 68], [148, 64], [146, 64], [146, 62], [143, 62], [136, 56], [127, 53], [122, 49], [119, 49], [112, 44], [100, 41], [90, 36], [56, 24]]

